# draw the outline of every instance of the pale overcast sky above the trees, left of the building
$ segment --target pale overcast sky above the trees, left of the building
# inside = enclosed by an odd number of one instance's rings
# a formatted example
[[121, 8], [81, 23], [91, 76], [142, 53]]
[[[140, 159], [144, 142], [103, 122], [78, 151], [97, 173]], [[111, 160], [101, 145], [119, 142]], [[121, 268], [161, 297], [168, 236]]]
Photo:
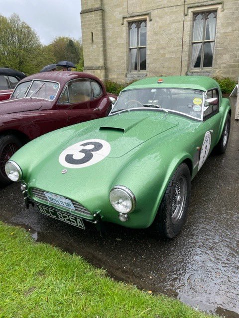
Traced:
[[81, 0], [0, 0], [0, 14], [19, 15], [39, 36], [42, 44], [58, 36], [81, 38]]

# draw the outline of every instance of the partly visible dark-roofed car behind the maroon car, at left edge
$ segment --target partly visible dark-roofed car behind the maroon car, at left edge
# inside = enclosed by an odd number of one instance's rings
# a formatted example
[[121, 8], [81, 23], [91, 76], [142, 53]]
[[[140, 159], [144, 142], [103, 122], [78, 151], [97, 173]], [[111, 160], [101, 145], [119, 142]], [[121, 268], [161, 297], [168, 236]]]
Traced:
[[0, 101], [9, 99], [18, 81], [25, 77], [26, 75], [22, 72], [0, 68]]

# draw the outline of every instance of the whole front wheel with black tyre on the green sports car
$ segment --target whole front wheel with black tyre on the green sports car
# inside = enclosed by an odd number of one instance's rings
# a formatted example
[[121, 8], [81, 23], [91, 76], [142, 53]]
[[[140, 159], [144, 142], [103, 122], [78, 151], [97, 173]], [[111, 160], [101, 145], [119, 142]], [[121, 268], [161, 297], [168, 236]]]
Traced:
[[172, 239], [182, 229], [191, 193], [191, 174], [186, 163], [174, 172], [154, 221], [156, 234]]

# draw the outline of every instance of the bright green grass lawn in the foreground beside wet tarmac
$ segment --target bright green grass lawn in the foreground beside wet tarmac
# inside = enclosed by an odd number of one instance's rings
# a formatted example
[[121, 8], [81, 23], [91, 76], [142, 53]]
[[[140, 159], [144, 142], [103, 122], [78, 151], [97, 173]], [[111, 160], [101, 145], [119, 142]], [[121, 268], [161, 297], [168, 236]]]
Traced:
[[0, 318], [206, 318], [0, 222]]

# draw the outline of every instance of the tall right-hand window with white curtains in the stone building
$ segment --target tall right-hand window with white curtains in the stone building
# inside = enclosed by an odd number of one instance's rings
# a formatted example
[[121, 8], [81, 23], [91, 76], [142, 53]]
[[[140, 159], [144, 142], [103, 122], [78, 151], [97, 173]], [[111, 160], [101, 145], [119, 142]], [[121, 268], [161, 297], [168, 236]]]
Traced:
[[217, 12], [194, 14], [192, 38], [192, 69], [211, 68], [216, 35]]

